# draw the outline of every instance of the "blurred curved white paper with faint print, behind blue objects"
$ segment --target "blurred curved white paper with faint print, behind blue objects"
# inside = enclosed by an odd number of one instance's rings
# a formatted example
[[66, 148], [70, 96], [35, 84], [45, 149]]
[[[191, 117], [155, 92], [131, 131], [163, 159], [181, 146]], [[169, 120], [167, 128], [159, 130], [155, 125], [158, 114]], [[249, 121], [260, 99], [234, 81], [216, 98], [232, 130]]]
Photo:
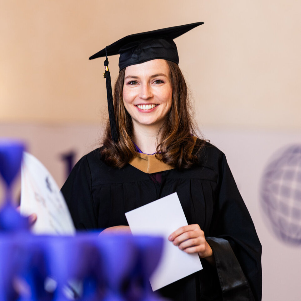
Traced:
[[68, 207], [51, 174], [33, 155], [24, 152], [21, 167], [22, 215], [36, 213], [32, 231], [36, 234], [74, 235]]

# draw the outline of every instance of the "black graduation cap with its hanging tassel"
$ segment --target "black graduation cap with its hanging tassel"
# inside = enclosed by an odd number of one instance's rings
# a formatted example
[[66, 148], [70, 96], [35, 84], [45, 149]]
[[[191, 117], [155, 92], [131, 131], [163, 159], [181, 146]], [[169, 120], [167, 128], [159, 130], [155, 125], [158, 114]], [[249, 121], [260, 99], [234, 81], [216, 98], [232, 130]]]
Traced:
[[117, 142], [118, 135], [113, 107], [111, 76], [108, 69], [108, 55], [115, 55], [119, 53], [119, 70], [130, 65], [141, 64], [158, 58], [178, 64], [178, 50], [176, 44], [173, 42], [173, 39], [202, 24], [204, 23], [197, 22], [152, 30], [144, 33], [131, 34], [103, 48], [89, 58], [92, 60], [94, 58], [106, 57], [104, 62], [106, 68], [104, 77], [106, 78], [107, 84], [109, 119], [112, 140], [114, 142]]

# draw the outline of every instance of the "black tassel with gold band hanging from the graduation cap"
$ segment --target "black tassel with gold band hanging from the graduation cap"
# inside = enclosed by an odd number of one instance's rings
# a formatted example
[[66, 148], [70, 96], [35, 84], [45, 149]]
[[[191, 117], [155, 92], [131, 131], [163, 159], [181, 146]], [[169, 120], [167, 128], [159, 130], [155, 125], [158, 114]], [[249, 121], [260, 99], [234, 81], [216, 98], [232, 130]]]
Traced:
[[[106, 49], [107, 50], [107, 49]], [[116, 129], [116, 119], [115, 119], [115, 112], [114, 112], [114, 104], [113, 104], [113, 94], [112, 94], [112, 84], [111, 84], [111, 74], [108, 68], [108, 58], [104, 61], [104, 66], [106, 67], [106, 71], [103, 76], [106, 78], [106, 85], [107, 85], [107, 98], [108, 98], [108, 111], [109, 111], [109, 120], [111, 126], [111, 136], [114, 143], [118, 141], [118, 134]]]

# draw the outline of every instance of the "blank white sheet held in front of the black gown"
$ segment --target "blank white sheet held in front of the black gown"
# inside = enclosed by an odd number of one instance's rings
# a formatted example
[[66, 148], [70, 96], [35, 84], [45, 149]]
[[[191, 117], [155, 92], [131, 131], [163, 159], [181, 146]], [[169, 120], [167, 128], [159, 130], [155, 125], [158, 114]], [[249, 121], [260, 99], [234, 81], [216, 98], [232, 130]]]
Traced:
[[125, 213], [133, 234], [163, 236], [163, 252], [150, 280], [153, 291], [202, 269], [198, 254], [187, 254], [168, 236], [187, 225], [177, 193]]

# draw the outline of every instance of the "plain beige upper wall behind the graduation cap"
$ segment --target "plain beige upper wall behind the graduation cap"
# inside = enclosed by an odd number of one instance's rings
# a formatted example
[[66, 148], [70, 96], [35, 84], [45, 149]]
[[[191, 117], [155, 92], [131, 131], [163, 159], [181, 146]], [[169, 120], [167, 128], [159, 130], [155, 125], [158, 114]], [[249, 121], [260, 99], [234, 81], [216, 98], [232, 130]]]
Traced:
[[99, 123], [103, 59], [90, 55], [127, 34], [203, 21], [176, 39], [201, 128], [300, 129], [300, 9], [293, 0], [1, 0], [0, 121]]

